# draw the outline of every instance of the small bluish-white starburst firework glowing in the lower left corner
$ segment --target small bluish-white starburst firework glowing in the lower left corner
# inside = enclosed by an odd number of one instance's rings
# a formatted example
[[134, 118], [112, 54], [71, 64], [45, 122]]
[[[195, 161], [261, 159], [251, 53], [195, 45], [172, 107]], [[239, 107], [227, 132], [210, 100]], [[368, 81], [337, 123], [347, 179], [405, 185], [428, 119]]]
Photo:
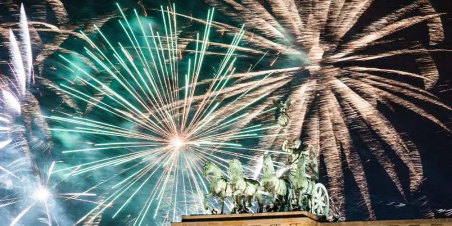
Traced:
[[[19, 222], [27, 222], [28, 220], [24, 219], [27, 215], [33, 215], [33, 222], [35, 222], [36, 219], [40, 219], [47, 225], [52, 225], [53, 222], [58, 225], [58, 222], [61, 222], [61, 219], [64, 219], [64, 217], [57, 217], [54, 214], [55, 211], [60, 209], [58, 203], [55, 202], [56, 198], [99, 204], [84, 199], [84, 197], [95, 196], [96, 194], [93, 193], [55, 192], [56, 186], [67, 179], [68, 176], [63, 177], [56, 183], [52, 183], [51, 176], [54, 167], [55, 162], [49, 167], [47, 174], [41, 177], [39, 172], [35, 172], [36, 168], [33, 167], [32, 169], [29, 161], [25, 158], [15, 160], [8, 164], [7, 167], [0, 166], [0, 172], [5, 173], [0, 182], [3, 194], [5, 194], [5, 197], [0, 199], [0, 207], [8, 210], [20, 210], [20, 212], [11, 220], [10, 226], [17, 225]], [[8, 170], [8, 168], [13, 168], [13, 170]], [[22, 206], [25, 207], [22, 208]], [[40, 217], [39, 212], [41, 210], [44, 210], [44, 218]]]

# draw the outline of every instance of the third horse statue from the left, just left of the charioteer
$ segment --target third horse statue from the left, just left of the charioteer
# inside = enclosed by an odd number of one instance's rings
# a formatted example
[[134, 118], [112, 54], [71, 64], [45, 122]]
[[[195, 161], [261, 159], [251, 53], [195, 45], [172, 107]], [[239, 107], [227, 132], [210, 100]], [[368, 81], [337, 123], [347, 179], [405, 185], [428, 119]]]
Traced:
[[264, 154], [262, 169], [264, 170], [264, 176], [261, 179], [262, 190], [272, 194], [272, 210], [277, 211], [278, 206], [280, 206], [279, 211], [284, 211], [286, 205], [288, 205], [290, 209], [290, 182], [276, 176], [275, 167], [273, 166], [273, 161], [269, 154]]

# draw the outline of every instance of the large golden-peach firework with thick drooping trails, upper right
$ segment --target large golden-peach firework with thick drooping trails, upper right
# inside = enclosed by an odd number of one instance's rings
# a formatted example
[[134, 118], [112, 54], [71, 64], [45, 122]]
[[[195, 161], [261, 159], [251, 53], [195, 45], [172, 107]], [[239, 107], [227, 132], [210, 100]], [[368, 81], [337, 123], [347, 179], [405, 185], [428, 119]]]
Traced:
[[[388, 39], [402, 29], [426, 22], [430, 44], [441, 42], [444, 38], [441, 20], [428, 1], [412, 1], [364, 27], [360, 24], [362, 30], [355, 29], [361, 31], [357, 33], [350, 31], [373, 1], [206, 2], [233, 20], [246, 22], [244, 39], [250, 47], [245, 46], [242, 51], [248, 55], [253, 54], [251, 50], [268, 51], [269, 65], [276, 67], [232, 75], [237, 79], [237, 89], [220, 96], [240, 93], [253, 86], [257, 77], [274, 72], [256, 87], [255, 92], [270, 92], [268, 96], [288, 96], [295, 100], [291, 112], [297, 117], [292, 119], [289, 139], [301, 137], [304, 145], [312, 144], [320, 150], [326, 167], [328, 193], [336, 203], [344, 203], [342, 165], [346, 162], [364, 198], [369, 217], [375, 218], [364, 163], [352, 133], [367, 145], [403, 197], [418, 188], [423, 178], [419, 154], [379, 111], [377, 103], [391, 109], [391, 104], [400, 105], [450, 132], [444, 123], [417, 104], [423, 102], [451, 109], [426, 91], [438, 79], [430, 52], [446, 50], [430, 50], [417, 41]], [[416, 11], [421, 15], [409, 15]], [[239, 30], [222, 23], [214, 23], [212, 27], [222, 32]], [[414, 59], [419, 72], [388, 64], [378, 67], [372, 64], [375, 60], [395, 57]], [[407, 82], [413, 78], [423, 81], [424, 87]], [[269, 85], [275, 86], [268, 89]], [[264, 104], [271, 106], [271, 101], [266, 99]], [[262, 148], [269, 148], [281, 144], [281, 139], [263, 139], [260, 144]], [[390, 152], [394, 152], [408, 168], [409, 190], [403, 188], [402, 172], [394, 168], [395, 160], [390, 157], [392, 153], [384, 150], [385, 145], [389, 145]], [[340, 209], [343, 211], [344, 208]], [[431, 210], [427, 212], [432, 213]]]

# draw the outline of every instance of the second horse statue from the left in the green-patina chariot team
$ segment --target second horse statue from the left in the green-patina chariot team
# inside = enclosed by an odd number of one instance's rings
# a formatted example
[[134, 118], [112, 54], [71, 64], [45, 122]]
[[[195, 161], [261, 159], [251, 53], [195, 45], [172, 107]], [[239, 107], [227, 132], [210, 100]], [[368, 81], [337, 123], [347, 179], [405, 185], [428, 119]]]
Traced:
[[233, 189], [233, 199], [238, 203], [238, 210], [246, 211], [246, 202], [248, 206], [252, 206], [252, 201], [257, 200], [259, 204], [258, 212], [263, 212], [264, 206], [261, 194], [258, 188], [261, 186], [259, 181], [244, 177], [242, 163], [238, 159], [229, 161], [229, 175], [231, 176], [230, 184]]

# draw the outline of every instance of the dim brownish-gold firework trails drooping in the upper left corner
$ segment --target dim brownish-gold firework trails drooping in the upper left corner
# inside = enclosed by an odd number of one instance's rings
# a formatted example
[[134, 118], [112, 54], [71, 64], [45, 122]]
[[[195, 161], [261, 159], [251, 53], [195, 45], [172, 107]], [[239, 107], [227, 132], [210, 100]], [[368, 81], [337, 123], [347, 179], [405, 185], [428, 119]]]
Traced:
[[[98, 70], [96, 65], [89, 58], [87, 58], [83, 54], [78, 53], [77, 48], [73, 48], [77, 45], [66, 46], [64, 45], [64, 42], [68, 39], [76, 39], [81, 41], [83, 45], [86, 44], [87, 40], [85, 40], [85, 37], [75, 30], [83, 29], [84, 32], [92, 32], [95, 30], [94, 24], [100, 26], [106, 21], [117, 17], [118, 13], [110, 13], [109, 11], [106, 11], [106, 13], [96, 15], [96, 17], [86, 18], [81, 22], [76, 22], [75, 20], [69, 19], [72, 16], [72, 12], [69, 10], [71, 6], [70, 4], [71, 3], [63, 3], [60, 0], [50, 2], [37, 1], [26, 4], [26, 7], [31, 11], [29, 16], [32, 16], [31, 20], [28, 21], [29, 26], [27, 27], [27, 29], [29, 29], [29, 31], [27, 31], [27, 34], [29, 40], [33, 43], [35, 50], [38, 50], [34, 52], [35, 72], [37, 72], [36, 74], [38, 75], [43, 75], [32, 77], [33, 83], [36, 82], [38, 84], [38, 86], [36, 86], [36, 89], [33, 90], [35, 95], [38, 96], [39, 94], [41, 94], [41, 90], [39, 88], [43, 88], [44, 86], [45, 89], [52, 91], [53, 94], [61, 98], [62, 101], [59, 104], [68, 105], [73, 110], [80, 112], [82, 106], [77, 105], [77, 102], [72, 98], [72, 96], [67, 95], [64, 92], [61, 92], [59, 89], [54, 88], [55, 86], [58, 86], [58, 83], [60, 83], [61, 80], [65, 80], [66, 78], [58, 76], [58, 70], [60, 69], [60, 67], [64, 66], [61, 65], [60, 62], [58, 62], [59, 59], [54, 60], [53, 56], [56, 55], [55, 52], [75, 54], [83, 61], [84, 64], [89, 65], [92, 70]], [[23, 19], [25, 19], [25, 17], [23, 17], [24, 6], [18, 7], [17, 3], [11, 0], [2, 1], [2, 3], [0, 3], [0, 6], [3, 6], [8, 11], [5, 18], [15, 18], [17, 15], [20, 15], [19, 24], [23, 24]], [[141, 4], [138, 4], [138, 6], [142, 7]], [[143, 11], [141, 13], [146, 14], [146, 11]], [[10, 42], [8, 40], [10, 29], [16, 31], [18, 25], [16, 21], [17, 20], [15, 20], [14, 22], [9, 22], [4, 20], [4, 18], [0, 19], [0, 36], [6, 37], [6, 40], [0, 43], [0, 46], [5, 45], [8, 47], [10, 45]], [[19, 30], [22, 31], [23, 29], [20, 28]], [[45, 39], [42, 39], [43, 34], [46, 37]], [[28, 59], [31, 60], [31, 58]], [[47, 64], [50, 65], [46, 67]], [[44, 71], [46, 73], [44, 73]], [[106, 84], [111, 82], [110, 77], [98, 79], [102, 80], [102, 82]], [[97, 93], [98, 98], [101, 98], [101, 95], [101, 93]], [[29, 99], [37, 103], [37, 100], [34, 100], [33, 96]], [[89, 110], [91, 110], [90, 107], [84, 108], [85, 112], [88, 112]]]

